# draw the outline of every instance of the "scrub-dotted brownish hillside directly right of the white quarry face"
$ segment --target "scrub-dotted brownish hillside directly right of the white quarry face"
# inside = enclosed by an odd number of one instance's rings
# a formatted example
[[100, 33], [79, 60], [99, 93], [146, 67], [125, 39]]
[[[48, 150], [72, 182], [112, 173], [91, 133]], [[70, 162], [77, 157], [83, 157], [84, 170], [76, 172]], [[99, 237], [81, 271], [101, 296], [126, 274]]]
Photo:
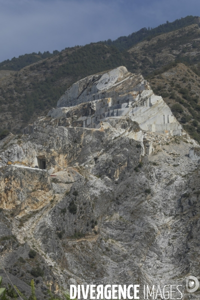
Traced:
[[[200, 63], [197, 63], [196, 66], [194, 66], [193, 63], [194, 61], [184, 62], [185, 67], [183, 67], [184, 71], [183, 74], [181, 74], [178, 72], [179, 65], [177, 61], [175, 61], [174, 63], [162, 67], [160, 70], [154, 71], [148, 76], [148, 80], [152, 80], [154, 92], [161, 95], [166, 103], [169, 104], [173, 114], [182, 124], [184, 130], [187, 131], [193, 139], [200, 142]], [[171, 81], [168, 81], [164, 72], [171, 68], [176, 72], [176, 75], [171, 78]], [[155, 80], [157, 81], [156, 86], [154, 86]], [[166, 94], [165, 90], [169, 90], [169, 85], [173, 97]], [[176, 103], [174, 103], [174, 101]]]

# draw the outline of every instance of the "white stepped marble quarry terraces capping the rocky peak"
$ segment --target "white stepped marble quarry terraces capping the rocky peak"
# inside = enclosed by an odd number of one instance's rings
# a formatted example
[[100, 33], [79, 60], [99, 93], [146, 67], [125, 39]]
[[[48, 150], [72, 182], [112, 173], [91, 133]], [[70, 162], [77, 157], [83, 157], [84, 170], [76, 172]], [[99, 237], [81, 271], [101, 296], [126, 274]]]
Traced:
[[[138, 130], [131, 125], [138, 124]], [[68, 88], [47, 116], [23, 129], [32, 134], [39, 128], [82, 127], [112, 128], [113, 138], [123, 134], [141, 142], [143, 153], [154, 147], [145, 139], [146, 132], [165, 136], [182, 135], [182, 126], [161, 96], [155, 95], [142, 75], [119, 66], [107, 72], [87, 76]]]

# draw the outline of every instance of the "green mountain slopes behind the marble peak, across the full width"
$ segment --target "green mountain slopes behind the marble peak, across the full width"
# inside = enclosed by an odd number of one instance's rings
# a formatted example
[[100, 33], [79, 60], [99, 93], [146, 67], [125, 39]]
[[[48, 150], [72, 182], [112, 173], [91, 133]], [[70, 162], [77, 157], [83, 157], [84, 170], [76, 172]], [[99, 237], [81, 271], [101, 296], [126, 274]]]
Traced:
[[[151, 38], [144, 39], [123, 51], [117, 49], [115, 45], [99, 42], [65, 48], [59, 53], [55, 51], [53, 55], [49, 53], [49, 57], [27, 65], [18, 71], [14, 70], [17, 66], [11, 66], [11, 62], [4, 68], [12, 67], [12, 69], [2, 69], [3, 66], [1, 66], [0, 132], [9, 130], [12, 133], [20, 134], [27, 123], [32, 123], [37, 116], [45, 115], [50, 108], [55, 106], [57, 99], [75, 81], [120, 65], [124, 65], [130, 72], [142, 73], [151, 83], [151, 78], [153, 79], [154, 76], [157, 78], [161, 73], [175, 67], [178, 63], [183, 63], [188, 71], [192, 72], [197, 83], [200, 74], [199, 26], [197, 23], [198, 17], [187, 17], [175, 23], [167, 23], [168, 27], [163, 25], [160, 30], [172, 28], [173, 31], [154, 37], [151, 34]], [[174, 30], [177, 28], [175, 24], [185, 27]], [[155, 35], [156, 32], [153, 32]], [[159, 31], [159, 33], [162, 32]], [[39, 57], [39, 59], [41, 58]], [[184, 76], [178, 74], [180, 75], [177, 78], [180, 81], [179, 84], [184, 87], [185, 83], [181, 80]], [[192, 86], [192, 80], [194, 79], [190, 76], [187, 83], [189, 86]], [[154, 81], [152, 80], [152, 82]], [[160, 84], [166, 86], [167, 82], [160, 81]], [[164, 100], [166, 98], [169, 106], [172, 106], [175, 99], [171, 98], [170, 88], [168, 86], [166, 91], [168, 97], [165, 93], [163, 98]], [[175, 86], [172, 89], [175, 94], [178, 92], [175, 90]], [[193, 92], [194, 94], [192, 94]], [[177, 95], [184, 101], [183, 94], [178, 93]], [[188, 104], [191, 106], [190, 111], [192, 113], [189, 112], [191, 118], [186, 118], [184, 126], [193, 138], [199, 140], [199, 133], [196, 131], [198, 127], [198, 123], [196, 125], [199, 104], [198, 86], [189, 91], [189, 96], [191, 99], [195, 99], [191, 101], [196, 101], [196, 104], [193, 102], [191, 105]], [[180, 120], [184, 116], [183, 114], [188, 112], [188, 109], [181, 103], [181, 100], [178, 103], [182, 107], [179, 109], [179, 116], [177, 116]], [[185, 119], [183, 118], [183, 120]]]

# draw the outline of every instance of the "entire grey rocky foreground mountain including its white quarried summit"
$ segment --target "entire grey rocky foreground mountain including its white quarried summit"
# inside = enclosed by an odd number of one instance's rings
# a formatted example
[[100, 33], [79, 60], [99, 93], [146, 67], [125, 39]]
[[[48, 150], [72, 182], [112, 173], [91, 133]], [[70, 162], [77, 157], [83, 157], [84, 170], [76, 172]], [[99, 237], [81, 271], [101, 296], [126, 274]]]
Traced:
[[199, 146], [142, 76], [86, 77], [24, 133], [0, 141], [0, 265], [21, 291], [200, 275]]

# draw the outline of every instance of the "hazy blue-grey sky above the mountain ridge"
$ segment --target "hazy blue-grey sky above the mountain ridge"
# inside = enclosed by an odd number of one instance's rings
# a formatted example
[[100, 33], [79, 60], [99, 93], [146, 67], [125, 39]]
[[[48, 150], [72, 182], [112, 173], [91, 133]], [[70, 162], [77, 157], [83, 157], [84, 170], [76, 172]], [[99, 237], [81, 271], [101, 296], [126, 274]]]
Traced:
[[0, 0], [0, 61], [113, 40], [186, 15], [200, 15], [200, 0]]

